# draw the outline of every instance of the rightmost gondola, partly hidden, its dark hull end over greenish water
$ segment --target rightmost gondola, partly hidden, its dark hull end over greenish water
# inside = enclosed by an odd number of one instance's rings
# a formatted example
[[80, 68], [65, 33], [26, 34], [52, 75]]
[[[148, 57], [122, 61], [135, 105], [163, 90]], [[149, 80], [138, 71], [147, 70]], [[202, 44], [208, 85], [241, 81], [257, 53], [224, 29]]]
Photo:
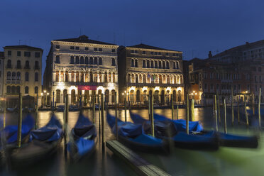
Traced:
[[[165, 116], [154, 114], [154, 118], [162, 121], [172, 121], [173, 123], [179, 123], [180, 120], [171, 120]], [[185, 120], [182, 120], [185, 121]], [[185, 121], [186, 122], [186, 121]], [[198, 123], [198, 122], [197, 122]], [[199, 127], [200, 126], [200, 127]], [[199, 133], [207, 134], [208, 131], [204, 131], [201, 125], [194, 126], [194, 130], [197, 130]], [[185, 125], [182, 125], [182, 130], [185, 131]], [[257, 136], [237, 136], [232, 134], [226, 134], [217, 132], [217, 137], [219, 138], [219, 145], [226, 147], [235, 147], [235, 148], [257, 148], [258, 147], [258, 137]]]

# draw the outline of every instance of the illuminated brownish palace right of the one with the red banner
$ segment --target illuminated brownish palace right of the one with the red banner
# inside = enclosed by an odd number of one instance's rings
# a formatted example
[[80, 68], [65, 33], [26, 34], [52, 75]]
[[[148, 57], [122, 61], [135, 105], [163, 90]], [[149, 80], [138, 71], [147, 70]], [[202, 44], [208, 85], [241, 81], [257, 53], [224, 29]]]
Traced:
[[129, 95], [131, 104], [167, 104], [173, 94], [175, 103], [184, 101], [182, 52], [139, 44], [119, 48], [119, 94]]

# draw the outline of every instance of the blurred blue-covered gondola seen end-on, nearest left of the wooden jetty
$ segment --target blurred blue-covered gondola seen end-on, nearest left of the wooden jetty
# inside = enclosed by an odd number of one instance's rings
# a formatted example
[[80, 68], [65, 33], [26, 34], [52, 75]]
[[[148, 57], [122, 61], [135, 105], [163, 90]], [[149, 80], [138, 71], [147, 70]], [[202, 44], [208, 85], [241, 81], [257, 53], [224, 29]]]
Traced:
[[97, 143], [97, 129], [82, 113], [79, 114], [75, 127], [70, 133], [70, 143], [67, 150], [73, 160], [79, 160], [84, 155], [94, 152]]

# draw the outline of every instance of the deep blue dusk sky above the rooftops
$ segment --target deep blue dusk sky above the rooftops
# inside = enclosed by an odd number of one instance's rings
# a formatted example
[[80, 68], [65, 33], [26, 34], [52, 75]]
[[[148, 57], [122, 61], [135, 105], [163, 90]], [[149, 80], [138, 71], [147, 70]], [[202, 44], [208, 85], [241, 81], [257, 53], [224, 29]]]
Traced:
[[145, 43], [180, 50], [183, 59], [206, 58], [264, 39], [264, 1], [0, 1], [0, 51], [5, 45], [43, 48], [77, 38], [117, 45]]

